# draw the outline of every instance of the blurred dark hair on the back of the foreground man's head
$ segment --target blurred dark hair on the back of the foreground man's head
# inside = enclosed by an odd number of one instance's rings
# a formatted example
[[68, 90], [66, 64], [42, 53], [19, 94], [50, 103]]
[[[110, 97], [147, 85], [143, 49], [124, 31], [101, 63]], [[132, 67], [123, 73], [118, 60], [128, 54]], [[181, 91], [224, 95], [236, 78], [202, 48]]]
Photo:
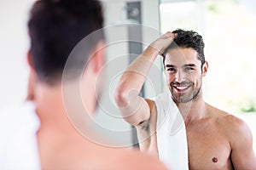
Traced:
[[[102, 6], [97, 0], [39, 0], [32, 6], [28, 29], [32, 65], [39, 81], [61, 79], [73, 48], [93, 31], [102, 29]], [[104, 39], [103, 32], [90, 42], [90, 50]], [[84, 57], [84, 63], [89, 57]]]

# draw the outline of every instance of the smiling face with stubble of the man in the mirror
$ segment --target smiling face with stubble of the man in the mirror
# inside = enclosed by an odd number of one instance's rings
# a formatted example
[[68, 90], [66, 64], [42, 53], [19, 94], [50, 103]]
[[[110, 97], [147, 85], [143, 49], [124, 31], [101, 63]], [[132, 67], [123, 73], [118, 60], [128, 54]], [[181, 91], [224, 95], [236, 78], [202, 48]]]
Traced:
[[201, 97], [202, 77], [207, 64], [201, 69], [201, 60], [193, 48], [172, 48], [166, 54], [166, 82], [176, 103], [187, 103]]

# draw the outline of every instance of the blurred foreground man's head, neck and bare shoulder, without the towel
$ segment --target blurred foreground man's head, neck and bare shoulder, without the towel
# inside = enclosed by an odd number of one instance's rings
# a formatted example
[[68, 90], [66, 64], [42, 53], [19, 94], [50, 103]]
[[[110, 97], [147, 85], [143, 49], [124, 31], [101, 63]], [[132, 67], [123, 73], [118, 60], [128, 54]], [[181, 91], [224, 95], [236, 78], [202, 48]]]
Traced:
[[[27, 60], [40, 121], [43, 169], [161, 169], [151, 156], [95, 144], [81, 135], [86, 113], [96, 111], [104, 65], [102, 6], [96, 0], [40, 0], [28, 21]], [[85, 114], [84, 114], [85, 112]], [[79, 133], [80, 131], [80, 133]], [[90, 131], [90, 130], [89, 130]], [[83, 133], [84, 134], [84, 133]]]

